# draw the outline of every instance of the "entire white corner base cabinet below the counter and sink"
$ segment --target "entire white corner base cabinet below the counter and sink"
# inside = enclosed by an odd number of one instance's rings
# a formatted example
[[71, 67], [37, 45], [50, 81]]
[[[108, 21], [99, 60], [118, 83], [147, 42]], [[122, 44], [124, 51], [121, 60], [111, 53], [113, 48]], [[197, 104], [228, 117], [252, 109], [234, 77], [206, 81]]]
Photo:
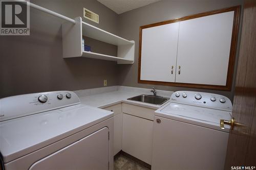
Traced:
[[114, 155], [122, 150], [151, 165], [155, 110], [125, 103], [103, 109], [114, 112]]

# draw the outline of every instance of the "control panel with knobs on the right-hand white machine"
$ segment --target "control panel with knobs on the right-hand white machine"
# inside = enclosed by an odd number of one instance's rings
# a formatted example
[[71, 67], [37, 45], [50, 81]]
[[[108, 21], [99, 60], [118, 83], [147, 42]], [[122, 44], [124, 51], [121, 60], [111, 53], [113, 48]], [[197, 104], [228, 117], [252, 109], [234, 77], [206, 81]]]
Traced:
[[223, 95], [214, 93], [176, 91], [170, 96], [170, 102], [232, 111], [231, 101]]

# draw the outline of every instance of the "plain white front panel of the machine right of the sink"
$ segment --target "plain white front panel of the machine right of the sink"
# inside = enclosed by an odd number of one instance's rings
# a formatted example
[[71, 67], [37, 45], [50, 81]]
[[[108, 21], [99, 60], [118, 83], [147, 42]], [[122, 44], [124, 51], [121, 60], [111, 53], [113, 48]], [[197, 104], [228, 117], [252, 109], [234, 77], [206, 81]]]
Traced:
[[153, 134], [153, 170], [224, 169], [226, 132], [155, 116]]

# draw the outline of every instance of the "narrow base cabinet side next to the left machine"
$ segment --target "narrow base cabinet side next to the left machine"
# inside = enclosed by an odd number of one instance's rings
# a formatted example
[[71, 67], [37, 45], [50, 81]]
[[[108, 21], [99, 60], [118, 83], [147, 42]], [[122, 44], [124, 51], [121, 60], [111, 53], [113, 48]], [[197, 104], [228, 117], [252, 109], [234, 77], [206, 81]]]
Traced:
[[116, 155], [122, 150], [122, 105], [117, 104], [110, 107], [105, 107], [103, 109], [114, 112], [114, 155]]

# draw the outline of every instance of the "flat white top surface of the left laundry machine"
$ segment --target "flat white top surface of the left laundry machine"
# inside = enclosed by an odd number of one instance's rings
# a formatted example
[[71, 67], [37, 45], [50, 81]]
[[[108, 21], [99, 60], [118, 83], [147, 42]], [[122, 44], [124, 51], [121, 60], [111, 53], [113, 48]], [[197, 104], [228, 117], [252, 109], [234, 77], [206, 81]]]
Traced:
[[6, 120], [0, 124], [0, 152], [7, 163], [112, 116], [113, 112], [78, 104]]

